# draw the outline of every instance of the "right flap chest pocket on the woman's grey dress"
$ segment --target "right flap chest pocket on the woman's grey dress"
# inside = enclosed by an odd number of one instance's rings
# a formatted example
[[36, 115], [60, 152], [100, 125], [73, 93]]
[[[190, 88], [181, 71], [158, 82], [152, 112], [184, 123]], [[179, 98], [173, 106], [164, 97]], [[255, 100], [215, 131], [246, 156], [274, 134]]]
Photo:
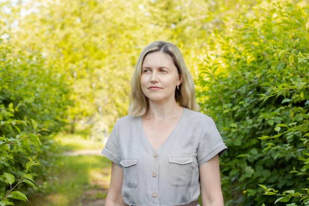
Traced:
[[186, 156], [175, 156], [168, 158], [168, 181], [176, 187], [188, 186], [193, 173], [193, 158]]

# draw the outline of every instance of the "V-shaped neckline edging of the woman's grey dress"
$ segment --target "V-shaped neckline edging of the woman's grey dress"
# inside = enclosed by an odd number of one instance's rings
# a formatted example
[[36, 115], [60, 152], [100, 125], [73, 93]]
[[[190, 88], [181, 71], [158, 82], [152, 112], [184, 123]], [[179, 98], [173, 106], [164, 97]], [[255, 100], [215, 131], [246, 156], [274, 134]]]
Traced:
[[162, 150], [162, 148], [168, 144], [169, 141], [172, 140], [172, 137], [175, 137], [177, 136], [177, 132], [179, 131], [178, 127], [179, 125], [181, 124], [181, 122], [184, 120], [184, 116], [185, 116], [185, 113], [187, 112], [186, 111], [187, 108], [183, 107], [183, 112], [179, 118], [179, 120], [177, 121], [176, 125], [174, 126], [174, 128], [171, 130], [171, 132], [169, 133], [169, 135], [167, 136], [167, 138], [165, 139], [165, 141], [162, 143], [162, 145], [157, 149], [157, 150], [154, 150], [154, 147], [153, 145], [150, 143], [150, 141], [148, 140], [147, 136], [146, 136], [146, 133], [145, 133], [145, 130], [144, 130], [144, 127], [143, 127], [143, 116], [140, 117], [140, 120], [139, 120], [139, 124], [140, 124], [140, 129], [141, 129], [141, 133], [142, 133], [142, 139], [147, 143], [147, 145], [153, 150], [153, 152], [159, 152], [160, 150]]

